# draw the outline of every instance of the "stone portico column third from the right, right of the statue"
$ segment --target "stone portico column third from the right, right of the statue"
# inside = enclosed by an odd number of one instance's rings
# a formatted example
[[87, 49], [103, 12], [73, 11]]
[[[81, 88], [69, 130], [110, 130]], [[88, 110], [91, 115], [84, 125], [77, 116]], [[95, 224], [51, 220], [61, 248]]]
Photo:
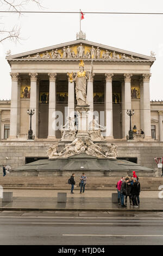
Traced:
[[112, 77], [114, 74], [105, 74], [105, 126], [107, 139], [113, 139], [112, 135]]

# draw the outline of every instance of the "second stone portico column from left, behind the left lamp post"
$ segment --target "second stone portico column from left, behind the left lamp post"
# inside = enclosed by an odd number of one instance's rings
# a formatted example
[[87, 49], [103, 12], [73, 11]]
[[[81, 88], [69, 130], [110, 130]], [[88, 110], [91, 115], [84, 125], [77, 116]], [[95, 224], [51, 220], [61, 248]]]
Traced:
[[[35, 138], [38, 137], [38, 109], [37, 109], [37, 73], [29, 73], [30, 76], [30, 109], [35, 109], [35, 113], [32, 116], [32, 130]], [[30, 121], [30, 119], [29, 119]]]

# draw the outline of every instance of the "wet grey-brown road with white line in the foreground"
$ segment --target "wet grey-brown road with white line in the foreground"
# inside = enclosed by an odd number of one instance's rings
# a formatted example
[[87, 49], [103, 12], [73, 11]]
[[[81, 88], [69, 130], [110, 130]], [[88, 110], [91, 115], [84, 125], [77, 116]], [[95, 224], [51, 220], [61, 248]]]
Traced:
[[162, 245], [163, 217], [0, 214], [0, 245]]

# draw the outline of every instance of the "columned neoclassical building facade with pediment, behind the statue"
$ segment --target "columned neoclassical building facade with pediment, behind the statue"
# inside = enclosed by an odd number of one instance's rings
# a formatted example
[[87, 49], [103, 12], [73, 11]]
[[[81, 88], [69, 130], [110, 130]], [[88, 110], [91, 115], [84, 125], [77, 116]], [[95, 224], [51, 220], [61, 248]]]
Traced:
[[27, 140], [28, 109], [35, 109], [32, 130], [36, 141], [61, 138], [60, 125], [66, 123], [67, 117], [77, 118], [76, 85], [67, 73], [76, 73], [81, 59], [84, 69], [91, 71], [87, 103], [106, 127], [105, 139], [126, 140], [130, 125], [126, 112], [134, 109], [132, 126], [145, 132], [143, 140], [163, 141], [163, 103], [150, 102], [149, 97], [155, 57], [85, 39], [7, 56], [12, 83], [9, 141]]

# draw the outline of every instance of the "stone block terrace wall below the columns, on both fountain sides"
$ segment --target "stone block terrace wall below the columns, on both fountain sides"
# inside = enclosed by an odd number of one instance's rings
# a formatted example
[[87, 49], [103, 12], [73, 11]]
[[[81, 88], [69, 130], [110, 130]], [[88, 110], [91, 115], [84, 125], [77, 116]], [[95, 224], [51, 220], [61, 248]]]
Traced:
[[[54, 142], [0, 142], [0, 167], [9, 164], [11, 168], [21, 166], [26, 157], [46, 157], [46, 151]], [[154, 157], [163, 156], [163, 142], [109, 142], [118, 147], [118, 157], [137, 157], [137, 163], [155, 169]], [[7, 160], [6, 157], [9, 159]]]

